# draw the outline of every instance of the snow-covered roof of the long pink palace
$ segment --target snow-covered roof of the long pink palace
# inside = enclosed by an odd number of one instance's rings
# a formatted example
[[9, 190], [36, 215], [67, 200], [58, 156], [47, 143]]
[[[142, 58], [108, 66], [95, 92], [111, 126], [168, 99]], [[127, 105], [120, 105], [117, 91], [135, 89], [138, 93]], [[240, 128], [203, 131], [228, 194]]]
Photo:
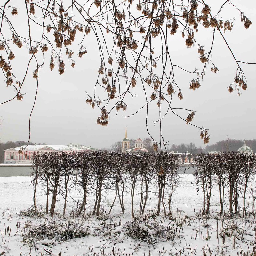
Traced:
[[[22, 146], [23, 148], [26, 147], [26, 145]], [[20, 147], [16, 147], [16, 148], [10, 148], [10, 149], [6, 149], [4, 151], [19, 151]], [[43, 151], [47, 151], [47, 150], [57, 150], [57, 151], [79, 151], [79, 150], [90, 150], [90, 151], [94, 151], [94, 148], [89, 148], [86, 147], [84, 145], [28, 145], [25, 148], [26, 151], [35, 151], [35, 150], [43, 150]]]

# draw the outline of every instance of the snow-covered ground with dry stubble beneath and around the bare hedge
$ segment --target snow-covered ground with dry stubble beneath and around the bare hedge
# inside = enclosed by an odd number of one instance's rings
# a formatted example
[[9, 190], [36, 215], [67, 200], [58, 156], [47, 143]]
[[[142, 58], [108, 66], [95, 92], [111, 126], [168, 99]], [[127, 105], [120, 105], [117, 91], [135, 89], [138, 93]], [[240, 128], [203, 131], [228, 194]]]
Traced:
[[[98, 220], [95, 216], [89, 215], [82, 220], [80, 217], [72, 215], [72, 209], [76, 207], [74, 200], [81, 198], [78, 191], [74, 191], [72, 194], [73, 200], [69, 200], [64, 217], [61, 215], [63, 205], [61, 196], [59, 196], [56, 205], [58, 213], [53, 218], [47, 215], [37, 218], [25, 217], [20, 212], [26, 211], [33, 204], [31, 178], [27, 176], [0, 178], [0, 255], [243, 256], [250, 255], [252, 252], [254, 253], [251, 255], [256, 255], [255, 220], [251, 217], [238, 216], [219, 218], [220, 204], [218, 191], [215, 187], [212, 195], [211, 217], [200, 216], [203, 196], [201, 191], [197, 193], [196, 186], [193, 184], [194, 177], [192, 174], [181, 175], [180, 184], [173, 196], [172, 220], [164, 218], [163, 213], [157, 218], [149, 217], [153, 214], [157, 205], [156, 196], [151, 194], [148, 203], [150, 208], [147, 209], [146, 216], [141, 216], [141, 220], [147, 219], [151, 223], [158, 222], [160, 226], [172, 228], [172, 231], [175, 232], [174, 241], [167, 241], [162, 238], [154, 248], [153, 245], [149, 246], [146, 242], [133, 239], [124, 232], [124, 226], [132, 221], [129, 191], [127, 191], [124, 198], [125, 214], [121, 213], [119, 202], [116, 201], [110, 216], [105, 220]], [[252, 186], [254, 185], [252, 184]], [[103, 196], [101, 212], [105, 217], [107, 216], [106, 212], [110, 209], [113, 197], [114, 191], [111, 195]], [[136, 211], [139, 209], [139, 197], [138, 192], [134, 201]], [[240, 197], [242, 198], [242, 196]], [[252, 199], [250, 200], [252, 203]], [[94, 204], [93, 195], [89, 195], [87, 204], [92, 209]], [[38, 208], [42, 207], [44, 209], [45, 207], [45, 195], [40, 186], [38, 188], [37, 205]], [[90, 211], [90, 207], [88, 211]], [[227, 205], [225, 207], [227, 212]], [[139, 216], [136, 219], [139, 219]], [[52, 227], [62, 226], [62, 229], [68, 226], [75, 228], [79, 226], [80, 229], [84, 228], [88, 234], [85, 234], [85, 237], [60, 241], [61, 239], [58, 238], [36, 238], [35, 234], [31, 232], [30, 237], [33, 237], [33, 239], [28, 240], [28, 230], [35, 231], [35, 227], [44, 223], [48, 226], [52, 225]], [[142, 224], [140, 223], [140, 225]]]

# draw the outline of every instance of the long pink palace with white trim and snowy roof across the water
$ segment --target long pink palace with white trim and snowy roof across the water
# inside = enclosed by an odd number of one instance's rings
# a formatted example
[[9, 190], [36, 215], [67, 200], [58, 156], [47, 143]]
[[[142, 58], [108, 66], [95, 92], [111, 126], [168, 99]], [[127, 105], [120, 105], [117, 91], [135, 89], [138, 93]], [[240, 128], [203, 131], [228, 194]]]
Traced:
[[[22, 146], [25, 148], [26, 146]], [[94, 151], [94, 148], [85, 147], [84, 145], [28, 145], [19, 154], [20, 147], [9, 148], [4, 150], [4, 164], [21, 164], [31, 163], [33, 160], [33, 154], [36, 152], [52, 152], [52, 151], [66, 151], [66, 152], [78, 152], [78, 151]]]

